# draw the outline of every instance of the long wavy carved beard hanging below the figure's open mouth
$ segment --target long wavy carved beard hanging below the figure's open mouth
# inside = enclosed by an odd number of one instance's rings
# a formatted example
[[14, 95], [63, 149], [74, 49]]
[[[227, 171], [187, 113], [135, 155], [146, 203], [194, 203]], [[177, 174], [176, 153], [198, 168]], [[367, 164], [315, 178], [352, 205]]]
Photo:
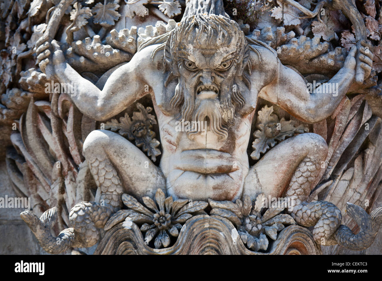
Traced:
[[[210, 131], [225, 140], [228, 137], [228, 128], [235, 123], [236, 118], [231, 94], [228, 91], [222, 91], [220, 99], [199, 99], [196, 97], [194, 89], [190, 91], [190, 87], [184, 87], [182, 84], [180, 81], [176, 86], [170, 106], [179, 106], [183, 101], [181, 119], [191, 123], [201, 123], [208, 117]], [[237, 95], [235, 94], [232, 98], [236, 102]], [[201, 132], [187, 132], [187, 137], [193, 139], [199, 133]]]

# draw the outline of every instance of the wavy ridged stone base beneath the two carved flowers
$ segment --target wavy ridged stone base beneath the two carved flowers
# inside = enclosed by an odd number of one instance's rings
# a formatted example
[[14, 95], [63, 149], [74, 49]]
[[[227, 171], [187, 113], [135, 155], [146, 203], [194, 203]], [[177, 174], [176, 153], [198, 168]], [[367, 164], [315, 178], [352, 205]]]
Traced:
[[139, 227], [131, 222], [118, 223], [105, 233], [94, 254], [99, 255], [319, 255], [321, 249], [309, 230], [298, 225], [283, 229], [266, 253], [249, 250], [238, 237], [235, 226], [221, 216], [197, 215], [180, 229], [175, 244], [155, 249], [144, 243]]

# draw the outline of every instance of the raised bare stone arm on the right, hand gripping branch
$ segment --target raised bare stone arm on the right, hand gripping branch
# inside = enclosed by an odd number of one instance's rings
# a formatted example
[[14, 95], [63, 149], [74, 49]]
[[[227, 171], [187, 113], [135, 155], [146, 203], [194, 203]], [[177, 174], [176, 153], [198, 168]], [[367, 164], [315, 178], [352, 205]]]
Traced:
[[[359, 67], [363, 68], [366, 73], [365, 77], [368, 77], [372, 66], [372, 52], [365, 48], [367, 46], [366, 42], [361, 44], [363, 44], [363, 47], [357, 53], [361, 60]], [[353, 46], [346, 57], [343, 67], [327, 82], [332, 86], [332, 93], [325, 93], [326, 89], [328, 89], [325, 84], [310, 93], [303, 78], [296, 71], [278, 62], [277, 79], [265, 86], [259, 96], [277, 104], [289, 114], [304, 122], [315, 123], [326, 119], [337, 108], [350, 85], [354, 82], [356, 73], [354, 55], [356, 51], [356, 47]]]

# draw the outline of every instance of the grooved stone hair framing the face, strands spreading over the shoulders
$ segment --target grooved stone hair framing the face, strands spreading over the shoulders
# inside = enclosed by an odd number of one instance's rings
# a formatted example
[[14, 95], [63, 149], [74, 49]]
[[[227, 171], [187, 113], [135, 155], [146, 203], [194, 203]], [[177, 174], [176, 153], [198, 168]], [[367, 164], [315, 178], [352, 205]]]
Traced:
[[[193, 33], [194, 31], [196, 32]], [[237, 55], [242, 57], [242, 59], [238, 61], [236, 75], [241, 78], [248, 88], [251, 88], [251, 81], [249, 80], [251, 75], [251, 60], [249, 60], [250, 52], [255, 52], [259, 57], [260, 62], [261, 54], [257, 49], [258, 46], [269, 49], [275, 54], [275, 56], [277, 56], [275, 50], [269, 47], [269, 45], [256, 39], [250, 39], [244, 36], [244, 33], [241, 31], [238, 23], [227, 18], [226, 16], [207, 13], [198, 13], [196, 15], [186, 16], [183, 17], [181, 22], [176, 25], [175, 29], [147, 40], [139, 46], [137, 51], [140, 52], [148, 46], [157, 45], [151, 54], [151, 58], [153, 59], [158, 52], [163, 50], [163, 72], [169, 71], [165, 80], [165, 86], [167, 86], [170, 81], [179, 77], [178, 65], [176, 65], [173, 61], [176, 46], [181, 42], [187, 42], [190, 35], [194, 36], [193, 40], [195, 44], [199, 45], [217, 44], [218, 46], [227, 46], [230, 42], [237, 42]], [[171, 107], [178, 107], [184, 101], [183, 95], [181, 94], [182, 91], [178, 88], [179, 87], [176, 87], [174, 96], [170, 100]], [[223, 101], [223, 105], [226, 104], [230, 107], [231, 102], [233, 102], [239, 108], [244, 106], [244, 98], [240, 93], [240, 89], [238, 89], [238, 85], [236, 88], [237, 91], [233, 91], [229, 99], [228, 97], [223, 97], [223, 99], [225, 99]]]

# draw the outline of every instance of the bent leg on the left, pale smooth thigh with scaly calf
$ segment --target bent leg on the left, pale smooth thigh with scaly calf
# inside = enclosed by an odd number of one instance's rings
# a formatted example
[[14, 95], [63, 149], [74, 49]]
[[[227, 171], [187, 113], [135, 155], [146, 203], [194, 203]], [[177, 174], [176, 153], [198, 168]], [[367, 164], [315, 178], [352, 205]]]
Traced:
[[117, 207], [123, 192], [140, 199], [165, 190], [165, 179], [142, 151], [123, 136], [107, 130], [91, 132], [83, 145], [85, 158], [105, 203]]

